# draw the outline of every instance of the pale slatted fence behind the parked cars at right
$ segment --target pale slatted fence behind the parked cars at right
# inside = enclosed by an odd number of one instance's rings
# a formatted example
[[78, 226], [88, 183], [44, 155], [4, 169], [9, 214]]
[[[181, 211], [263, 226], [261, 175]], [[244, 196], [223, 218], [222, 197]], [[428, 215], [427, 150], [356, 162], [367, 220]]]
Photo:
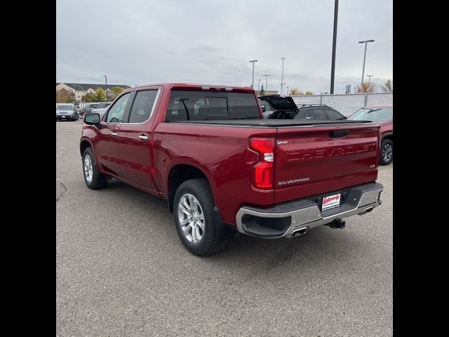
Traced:
[[300, 95], [292, 96], [292, 98], [296, 104], [328, 105], [346, 117], [366, 105], [393, 104], [393, 93], [340, 93], [336, 95]]

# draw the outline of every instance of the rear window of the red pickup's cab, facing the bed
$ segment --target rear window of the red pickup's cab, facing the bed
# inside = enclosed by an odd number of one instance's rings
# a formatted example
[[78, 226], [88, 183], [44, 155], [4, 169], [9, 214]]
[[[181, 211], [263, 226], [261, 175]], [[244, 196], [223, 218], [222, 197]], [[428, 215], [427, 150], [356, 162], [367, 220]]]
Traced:
[[252, 93], [172, 91], [166, 121], [261, 119]]

